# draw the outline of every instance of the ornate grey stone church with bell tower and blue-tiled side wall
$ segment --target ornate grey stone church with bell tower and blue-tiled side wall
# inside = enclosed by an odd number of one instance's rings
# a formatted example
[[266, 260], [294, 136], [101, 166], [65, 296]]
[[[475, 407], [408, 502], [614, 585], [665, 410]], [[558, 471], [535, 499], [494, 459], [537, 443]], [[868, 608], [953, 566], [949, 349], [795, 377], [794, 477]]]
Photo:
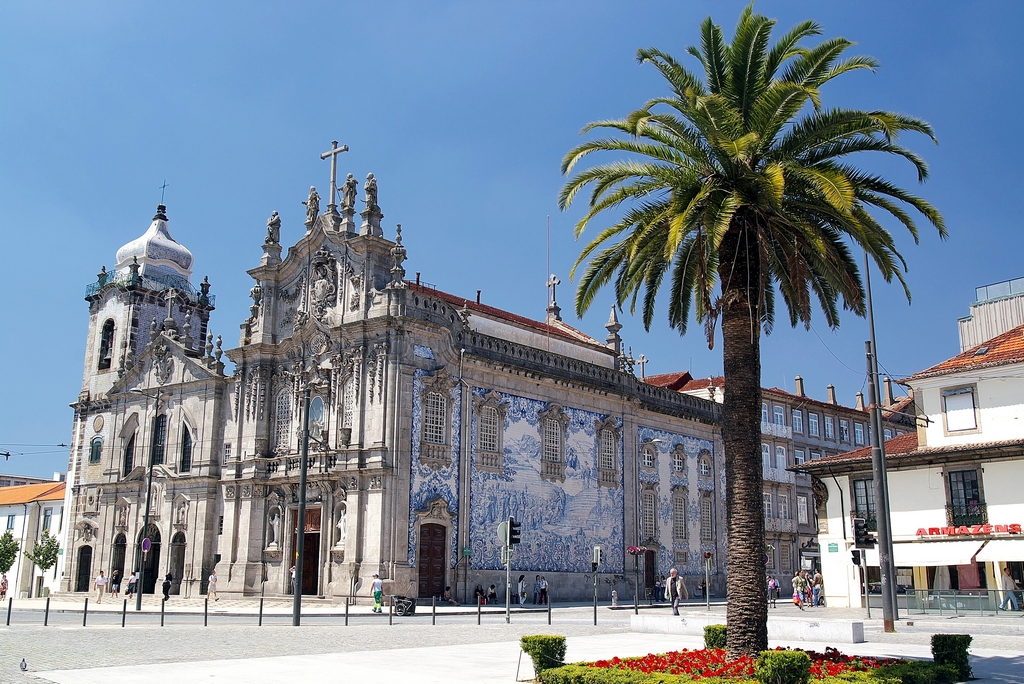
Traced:
[[407, 280], [401, 226], [385, 238], [373, 174], [362, 189], [356, 214], [351, 174], [332, 172], [323, 212], [310, 188], [284, 258], [271, 215], [232, 348], [163, 205], [87, 288], [61, 589], [141, 555], [145, 592], [169, 572], [196, 596], [216, 568], [222, 594], [288, 594], [302, 524], [304, 594], [367, 596], [379, 573], [388, 594], [465, 600], [503, 586], [511, 515], [514, 579], [557, 598], [592, 595], [595, 546], [605, 597], [671, 567], [693, 592], [707, 553], [724, 591], [717, 404], [638, 379], [614, 310], [604, 342], [563, 323], [554, 277], [543, 320]]

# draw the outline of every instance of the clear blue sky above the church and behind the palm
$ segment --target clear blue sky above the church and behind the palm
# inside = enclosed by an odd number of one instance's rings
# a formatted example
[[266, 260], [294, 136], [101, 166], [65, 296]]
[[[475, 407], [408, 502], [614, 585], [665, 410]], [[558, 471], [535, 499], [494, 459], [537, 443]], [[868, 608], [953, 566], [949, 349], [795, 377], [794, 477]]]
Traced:
[[[744, 3], [715, 2], [100, 2], [0, 3], [0, 472], [67, 468], [82, 383], [85, 287], [150, 224], [166, 181], [174, 238], [195, 255], [194, 283], [217, 295], [211, 330], [238, 343], [245, 272], [266, 218], [282, 242], [303, 231], [311, 184], [326, 195], [332, 140], [350, 152], [339, 176], [379, 181], [385, 237], [402, 225], [412, 277], [543, 318], [549, 272], [563, 318], [604, 339], [612, 302], [572, 313], [583, 243], [579, 202], [557, 206], [562, 157], [591, 121], [666, 93], [636, 51], [685, 53], [711, 14], [731, 36]], [[778, 20], [822, 25], [857, 42], [874, 73], [825, 87], [826, 106], [890, 110], [929, 121], [939, 144], [903, 141], [931, 167], [858, 160], [935, 204], [949, 239], [925, 226], [914, 245], [888, 221], [908, 263], [908, 303], [874, 272], [883, 373], [903, 378], [959, 351], [956, 318], [974, 288], [1024, 275], [1014, 207], [1022, 138], [1012, 133], [1024, 76], [1016, 2], [762, 1]], [[588, 238], [595, 234], [589, 232]], [[793, 330], [779, 311], [762, 340], [762, 384], [841, 402], [866, 391], [864, 319]], [[650, 332], [627, 311], [625, 343], [648, 375], [720, 374], [701, 328], [681, 337], [662, 313]]]

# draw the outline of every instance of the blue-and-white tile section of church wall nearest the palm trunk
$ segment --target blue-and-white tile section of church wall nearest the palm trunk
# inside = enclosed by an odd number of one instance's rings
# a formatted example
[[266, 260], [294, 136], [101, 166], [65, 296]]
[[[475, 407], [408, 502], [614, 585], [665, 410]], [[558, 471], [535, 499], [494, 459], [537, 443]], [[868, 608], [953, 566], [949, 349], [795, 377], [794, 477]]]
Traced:
[[[703, 553], [715, 552], [716, 542], [700, 541], [700, 493], [715, 491], [716, 481], [721, 482], [719, 491], [724, 491], [725, 467], [720, 458], [711, 458], [710, 477], [699, 476], [699, 457], [702, 452], [714, 455], [715, 444], [710, 439], [667, 432], [640, 426], [637, 428], [638, 443], [641, 448], [653, 446], [657, 458], [653, 469], [639, 468], [641, 484], [650, 485], [656, 493], [655, 533], [658, 542], [657, 573], [668, 574], [670, 568], [677, 568], [682, 574], [703, 573]], [[680, 453], [681, 452], [681, 453]], [[677, 456], [683, 456], [681, 470], [675, 463]], [[685, 487], [686, 540], [673, 539], [673, 490]], [[715, 522], [718, 521], [719, 501], [713, 504]], [[639, 519], [639, 511], [637, 513]], [[719, 536], [719, 525], [713, 527], [713, 536]], [[686, 561], [676, 560], [676, 552], [683, 551]]]

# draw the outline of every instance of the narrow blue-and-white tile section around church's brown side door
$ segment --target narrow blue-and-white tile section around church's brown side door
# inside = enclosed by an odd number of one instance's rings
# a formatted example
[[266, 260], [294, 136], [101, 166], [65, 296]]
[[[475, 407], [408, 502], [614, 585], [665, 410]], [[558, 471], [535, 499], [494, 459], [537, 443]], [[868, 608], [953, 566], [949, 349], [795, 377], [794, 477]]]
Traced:
[[[429, 351], [429, 347], [424, 347]], [[426, 356], [424, 356], [426, 357]], [[432, 357], [432, 353], [431, 353]], [[417, 511], [427, 510], [437, 499], [447, 504], [452, 515], [452, 537], [449, 540], [451, 565], [455, 567], [459, 550], [459, 441], [462, 438], [462, 393], [459, 387], [449, 392], [452, 416], [451, 464], [434, 469], [420, 463], [420, 440], [423, 437], [423, 378], [431, 375], [417, 370], [413, 375], [413, 458], [410, 473], [409, 564], [416, 566]]]

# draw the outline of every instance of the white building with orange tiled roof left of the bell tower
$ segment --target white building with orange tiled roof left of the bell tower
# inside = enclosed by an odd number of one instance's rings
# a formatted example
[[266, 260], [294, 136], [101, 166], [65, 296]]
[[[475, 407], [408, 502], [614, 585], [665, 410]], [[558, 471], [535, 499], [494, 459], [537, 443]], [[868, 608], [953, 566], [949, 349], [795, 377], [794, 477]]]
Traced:
[[60, 560], [49, 571], [43, 572], [25, 556], [25, 552], [33, 550], [44, 530], [60, 539], [63, 499], [63, 482], [0, 488], [0, 535], [10, 530], [18, 545], [17, 558], [7, 572], [8, 597], [46, 596], [60, 586], [63, 576]]

